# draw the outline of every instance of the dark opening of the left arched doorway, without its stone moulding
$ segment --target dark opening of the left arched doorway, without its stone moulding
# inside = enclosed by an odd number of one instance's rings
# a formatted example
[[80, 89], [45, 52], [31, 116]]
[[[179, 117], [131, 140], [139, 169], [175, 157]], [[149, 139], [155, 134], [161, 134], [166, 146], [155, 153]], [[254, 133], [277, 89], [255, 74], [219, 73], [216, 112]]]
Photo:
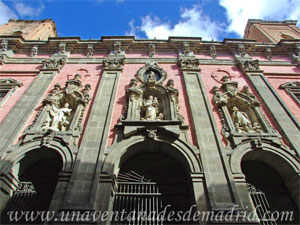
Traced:
[[[55, 150], [43, 147], [26, 153], [13, 167], [13, 174], [19, 183], [1, 213], [2, 222], [26, 224], [25, 216], [17, 222], [10, 221], [8, 212], [47, 211], [61, 170], [62, 159]], [[40, 219], [37, 216], [34, 221], [27, 223], [40, 224]]]

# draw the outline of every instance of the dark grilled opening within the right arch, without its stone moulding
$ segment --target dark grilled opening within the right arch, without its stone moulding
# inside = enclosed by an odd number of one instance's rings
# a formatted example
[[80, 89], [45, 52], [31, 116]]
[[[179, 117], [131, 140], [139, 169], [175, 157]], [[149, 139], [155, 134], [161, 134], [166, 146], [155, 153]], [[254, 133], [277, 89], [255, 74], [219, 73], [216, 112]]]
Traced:
[[298, 206], [280, 175], [263, 162], [242, 161], [241, 166], [261, 224], [299, 224]]

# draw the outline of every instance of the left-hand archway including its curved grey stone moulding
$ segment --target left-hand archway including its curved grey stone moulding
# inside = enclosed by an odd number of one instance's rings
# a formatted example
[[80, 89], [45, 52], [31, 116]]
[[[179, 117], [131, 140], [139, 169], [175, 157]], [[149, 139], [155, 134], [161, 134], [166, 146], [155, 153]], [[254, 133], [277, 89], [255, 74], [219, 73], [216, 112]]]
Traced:
[[0, 163], [2, 215], [6, 211], [55, 210], [54, 205], [61, 201], [55, 190], [59, 186], [62, 191], [67, 185], [72, 165], [71, 149], [57, 141], [14, 146]]

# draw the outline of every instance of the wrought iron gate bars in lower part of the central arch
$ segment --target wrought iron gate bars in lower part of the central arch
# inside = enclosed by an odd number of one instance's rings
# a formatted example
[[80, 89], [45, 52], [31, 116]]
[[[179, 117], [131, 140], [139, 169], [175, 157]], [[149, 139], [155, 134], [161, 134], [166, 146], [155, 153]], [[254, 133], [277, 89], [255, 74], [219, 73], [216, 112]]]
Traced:
[[188, 202], [185, 183], [158, 184], [134, 171], [119, 174], [117, 181], [113, 211], [123, 211], [126, 216], [123, 219], [115, 216], [114, 224], [181, 223], [175, 221], [175, 217], [172, 221], [167, 221], [163, 217], [163, 210], [166, 209], [166, 216], [170, 211], [177, 212], [185, 208]]

